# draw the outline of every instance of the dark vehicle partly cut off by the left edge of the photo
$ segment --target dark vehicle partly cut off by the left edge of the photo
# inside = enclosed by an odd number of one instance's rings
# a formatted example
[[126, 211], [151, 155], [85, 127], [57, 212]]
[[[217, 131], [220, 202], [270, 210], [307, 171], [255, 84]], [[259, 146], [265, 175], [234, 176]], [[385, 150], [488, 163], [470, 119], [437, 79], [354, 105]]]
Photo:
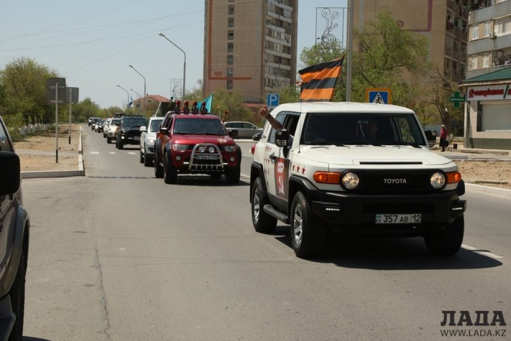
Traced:
[[22, 204], [19, 157], [0, 117], [0, 335], [21, 340], [30, 221]]

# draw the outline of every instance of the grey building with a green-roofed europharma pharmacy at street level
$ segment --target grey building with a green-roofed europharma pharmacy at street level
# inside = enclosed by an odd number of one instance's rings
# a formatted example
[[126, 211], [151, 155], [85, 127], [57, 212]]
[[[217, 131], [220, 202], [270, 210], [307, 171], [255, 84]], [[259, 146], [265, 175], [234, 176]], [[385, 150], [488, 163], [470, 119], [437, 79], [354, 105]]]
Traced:
[[511, 1], [471, 1], [467, 64], [464, 146], [511, 150]]

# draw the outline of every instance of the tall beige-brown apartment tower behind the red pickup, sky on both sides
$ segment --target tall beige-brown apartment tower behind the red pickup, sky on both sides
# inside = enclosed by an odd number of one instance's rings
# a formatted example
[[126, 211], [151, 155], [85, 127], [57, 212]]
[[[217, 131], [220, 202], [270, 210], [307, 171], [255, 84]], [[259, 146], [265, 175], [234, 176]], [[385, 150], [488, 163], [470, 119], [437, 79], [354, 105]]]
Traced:
[[204, 97], [239, 89], [246, 102], [296, 82], [298, 0], [205, 0]]

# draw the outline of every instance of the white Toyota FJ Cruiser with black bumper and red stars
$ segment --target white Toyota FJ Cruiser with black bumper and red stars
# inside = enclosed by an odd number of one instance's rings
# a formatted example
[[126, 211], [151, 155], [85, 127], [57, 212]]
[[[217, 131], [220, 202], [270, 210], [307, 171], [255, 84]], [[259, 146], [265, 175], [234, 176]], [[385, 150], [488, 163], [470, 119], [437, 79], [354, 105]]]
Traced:
[[464, 183], [457, 165], [429, 150], [407, 108], [352, 102], [288, 103], [255, 146], [250, 202], [255, 231], [290, 224], [298, 257], [318, 255], [329, 229], [422, 236], [451, 256], [463, 239]]

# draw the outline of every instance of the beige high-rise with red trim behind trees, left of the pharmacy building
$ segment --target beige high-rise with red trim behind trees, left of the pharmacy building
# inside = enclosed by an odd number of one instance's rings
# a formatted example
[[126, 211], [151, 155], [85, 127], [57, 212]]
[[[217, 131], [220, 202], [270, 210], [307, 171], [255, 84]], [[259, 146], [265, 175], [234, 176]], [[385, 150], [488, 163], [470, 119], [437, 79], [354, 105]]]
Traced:
[[354, 27], [361, 31], [384, 10], [403, 29], [428, 37], [438, 70], [455, 82], [466, 78], [469, 0], [354, 0]]

